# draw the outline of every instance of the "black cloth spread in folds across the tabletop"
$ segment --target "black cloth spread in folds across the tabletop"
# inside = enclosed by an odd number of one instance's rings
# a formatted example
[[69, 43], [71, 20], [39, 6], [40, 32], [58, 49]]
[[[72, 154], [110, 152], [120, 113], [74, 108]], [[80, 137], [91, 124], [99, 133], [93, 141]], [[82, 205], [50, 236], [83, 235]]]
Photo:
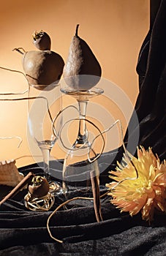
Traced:
[[[100, 159], [99, 167], [104, 159], [107, 165], [109, 154]], [[51, 162], [51, 171], [53, 167], [55, 163]], [[21, 168], [25, 175], [30, 170], [41, 171], [36, 165]], [[1, 197], [7, 190], [10, 188], [1, 186]], [[104, 192], [105, 186], [101, 184], [100, 193]], [[0, 255], [165, 255], [164, 214], [156, 215], [149, 225], [140, 214], [135, 217], [121, 214], [107, 196], [102, 199], [103, 221], [98, 223], [92, 201], [76, 200], [67, 208], [61, 208], [50, 220], [53, 236], [63, 240], [63, 244], [59, 244], [50, 238], [46, 223], [51, 212], [65, 200], [64, 196], [56, 197], [51, 211], [34, 212], [24, 206], [26, 193], [26, 190], [19, 192], [0, 207]], [[70, 197], [83, 196], [82, 193], [82, 190], [73, 190]], [[91, 190], [84, 194], [89, 195]]]

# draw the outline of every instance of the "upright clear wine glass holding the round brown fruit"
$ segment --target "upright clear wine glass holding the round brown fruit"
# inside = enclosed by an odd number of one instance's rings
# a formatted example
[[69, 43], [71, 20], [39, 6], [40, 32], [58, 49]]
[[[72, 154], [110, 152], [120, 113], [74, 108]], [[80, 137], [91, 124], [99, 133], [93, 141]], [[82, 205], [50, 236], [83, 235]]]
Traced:
[[[33, 138], [42, 152], [44, 176], [50, 184], [54, 184], [52, 189], [55, 192], [61, 192], [61, 186], [58, 182], [53, 182], [50, 175], [50, 151], [59, 137], [62, 117], [59, 117], [54, 127], [53, 118], [60, 110], [61, 92], [59, 84], [51, 84], [42, 90], [29, 86], [29, 146], [35, 157], [37, 155], [37, 148], [31, 140]], [[55, 177], [56, 173], [53, 176]]]

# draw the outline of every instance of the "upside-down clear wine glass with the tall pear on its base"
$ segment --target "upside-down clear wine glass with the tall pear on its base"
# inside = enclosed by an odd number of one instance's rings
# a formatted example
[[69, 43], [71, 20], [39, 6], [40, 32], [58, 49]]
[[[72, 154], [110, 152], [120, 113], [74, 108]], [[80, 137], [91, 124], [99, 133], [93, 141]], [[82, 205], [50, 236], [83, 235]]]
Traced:
[[[86, 119], [86, 107], [88, 101], [92, 97], [97, 97], [103, 93], [102, 89], [93, 88], [90, 90], [75, 90], [69, 87], [61, 88], [64, 94], [74, 97], [78, 102], [79, 116], [78, 118], [72, 118], [67, 121], [64, 125], [70, 126], [72, 121], [78, 124], [74, 124], [73, 127], [78, 127], [78, 134], [76, 135], [76, 140], [70, 147], [65, 146], [63, 139], [61, 141], [64, 147], [67, 149], [66, 157], [64, 158], [63, 166], [63, 189], [64, 192], [69, 192], [69, 187], [75, 188], [82, 187], [86, 181], [86, 188], [91, 187], [92, 176], [99, 176], [99, 167], [97, 160], [89, 161], [89, 159], [97, 159], [97, 153], [94, 148], [91, 147], [91, 142], [89, 138], [90, 132], [87, 129], [87, 125], [93, 126], [101, 134], [99, 128], [95, 126], [91, 121]], [[64, 125], [62, 128], [64, 128]], [[61, 129], [62, 133], [62, 129]], [[101, 136], [100, 136], [101, 137]]]

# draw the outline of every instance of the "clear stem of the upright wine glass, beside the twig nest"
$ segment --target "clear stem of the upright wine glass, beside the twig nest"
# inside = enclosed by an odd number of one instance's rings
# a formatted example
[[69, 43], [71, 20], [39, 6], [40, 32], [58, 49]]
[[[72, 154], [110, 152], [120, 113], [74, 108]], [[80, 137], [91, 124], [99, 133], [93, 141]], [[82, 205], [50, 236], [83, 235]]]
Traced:
[[50, 148], [40, 148], [42, 151], [43, 165], [44, 165], [44, 176], [50, 182]]

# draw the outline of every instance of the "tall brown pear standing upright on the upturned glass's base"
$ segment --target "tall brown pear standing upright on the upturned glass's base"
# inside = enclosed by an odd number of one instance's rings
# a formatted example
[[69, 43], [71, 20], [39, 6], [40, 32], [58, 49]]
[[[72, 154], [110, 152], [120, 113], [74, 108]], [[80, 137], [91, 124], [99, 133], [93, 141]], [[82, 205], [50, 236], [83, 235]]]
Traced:
[[69, 47], [69, 55], [64, 65], [64, 80], [75, 90], [88, 90], [99, 82], [102, 69], [86, 41], [78, 37], [78, 26]]

